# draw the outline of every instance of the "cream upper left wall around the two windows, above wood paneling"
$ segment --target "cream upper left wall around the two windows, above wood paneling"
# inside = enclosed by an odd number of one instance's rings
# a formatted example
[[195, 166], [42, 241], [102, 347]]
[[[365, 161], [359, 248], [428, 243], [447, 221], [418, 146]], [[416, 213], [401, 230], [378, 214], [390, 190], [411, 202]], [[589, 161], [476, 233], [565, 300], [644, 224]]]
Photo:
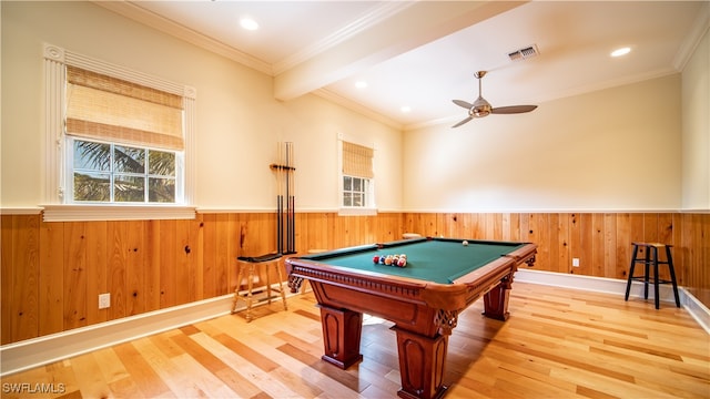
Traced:
[[268, 165], [294, 143], [296, 208], [337, 208], [337, 134], [376, 146], [377, 205], [402, 207], [402, 133], [306, 95], [273, 99], [273, 79], [90, 2], [1, 2], [3, 208], [43, 198], [42, 43], [191, 85], [197, 91], [196, 206], [273, 209]]

